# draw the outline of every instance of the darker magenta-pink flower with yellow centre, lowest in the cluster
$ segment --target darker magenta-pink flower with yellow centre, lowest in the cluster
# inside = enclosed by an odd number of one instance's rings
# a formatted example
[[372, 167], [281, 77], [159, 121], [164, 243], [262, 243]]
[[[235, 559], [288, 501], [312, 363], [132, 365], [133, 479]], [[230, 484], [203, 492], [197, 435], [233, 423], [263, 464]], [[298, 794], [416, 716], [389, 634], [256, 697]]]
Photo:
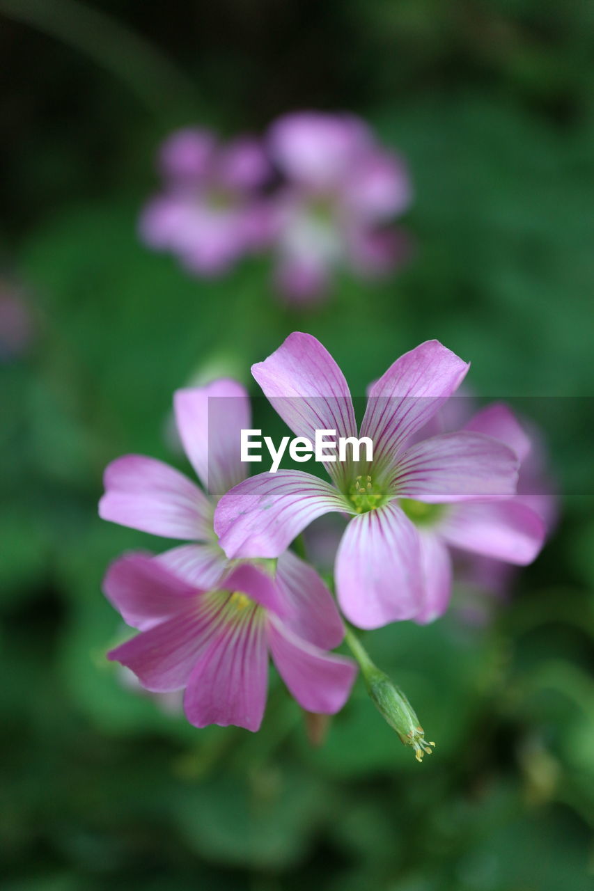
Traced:
[[129, 554], [108, 570], [104, 591], [140, 631], [108, 658], [133, 671], [146, 690], [185, 690], [186, 717], [196, 727], [260, 728], [268, 653], [308, 711], [332, 715], [349, 696], [356, 666], [318, 645], [336, 646], [342, 633], [333, 623], [318, 623], [315, 643], [295, 634], [309, 599], [287, 596], [262, 568], [240, 565], [216, 590], [206, 590], [150, 557]]

